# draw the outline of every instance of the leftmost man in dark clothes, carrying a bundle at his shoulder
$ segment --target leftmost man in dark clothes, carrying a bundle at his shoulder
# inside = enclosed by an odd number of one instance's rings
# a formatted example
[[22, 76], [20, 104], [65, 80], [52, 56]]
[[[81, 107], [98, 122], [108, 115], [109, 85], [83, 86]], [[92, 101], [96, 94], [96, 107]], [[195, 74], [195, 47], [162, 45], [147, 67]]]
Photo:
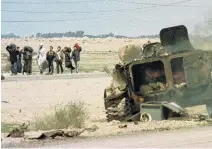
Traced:
[[8, 45], [6, 47], [6, 50], [9, 52], [9, 55], [10, 55], [12, 75], [16, 75], [17, 74], [17, 55], [19, 54], [19, 51], [17, 51], [15, 44]]

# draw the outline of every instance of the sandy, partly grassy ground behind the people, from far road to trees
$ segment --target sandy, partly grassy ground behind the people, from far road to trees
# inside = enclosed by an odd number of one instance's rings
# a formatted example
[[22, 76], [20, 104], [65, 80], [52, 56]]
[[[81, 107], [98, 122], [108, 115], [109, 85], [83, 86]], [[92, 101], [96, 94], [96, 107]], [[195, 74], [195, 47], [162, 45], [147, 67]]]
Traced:
[[[73, 47], [73, 45], [78, 42], [82, 46], [81, 52], [81, 61], [79, 71], [81, 72], [92, 72], [92, 71], [102, 71], [103, 67], [107, 66], [112, 68], [114, 64], [119, 62], [118, 58], [118, 49], [126, 44], [139, 44], [143, 45], [148, 40], [151, 42], [158, 41], [159, 39], [117, 39], [117, 38], [52, 38], [52, 39], [2, 39], [1, 40], [1, 53], [2, 53], [2, 63], [1, 67], [4, 72], [8, 71], [8, 68], [5, 66], [8, 62], [7, 56], [8, 52], [6, 51], [6, 46], [14, 43], [17, 46], [23, 48], [28, 45], [34, 49], [34, 53], [36, 54], [39, 48], [39, 44], [43, 43], [44, 48], [49, 50], [49, 46], [52, 45], [54, 50], [56, 50], [57, 46], [61, 46], [64, 48], [65, 46]], [[33, 57], [33, 66], [32, 72], [38, 72], [38, 65], [35, 61], [35, 57]], [[56, 65], [56, 64], [55, 64]], [[5, 68], [6, 67], [6, 68]], [[56, 66], [55, 66], [56, 67]], [[55, 69], [56, 70], [56, 69]], [[70, 72], [70, 70], [67, 70]]]

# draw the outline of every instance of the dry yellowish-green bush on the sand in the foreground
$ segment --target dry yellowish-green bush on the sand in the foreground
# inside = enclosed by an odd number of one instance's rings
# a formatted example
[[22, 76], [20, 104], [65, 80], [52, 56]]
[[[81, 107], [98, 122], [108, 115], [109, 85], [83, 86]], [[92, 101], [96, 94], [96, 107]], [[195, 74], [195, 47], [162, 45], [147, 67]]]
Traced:
[[88, 112], [85, 104], [78, 101], [55, 108], [52, 114], [36, 117], [30, 126], [32, 130], [65, 129], [68, 127], [82, 128], [87, 119]]

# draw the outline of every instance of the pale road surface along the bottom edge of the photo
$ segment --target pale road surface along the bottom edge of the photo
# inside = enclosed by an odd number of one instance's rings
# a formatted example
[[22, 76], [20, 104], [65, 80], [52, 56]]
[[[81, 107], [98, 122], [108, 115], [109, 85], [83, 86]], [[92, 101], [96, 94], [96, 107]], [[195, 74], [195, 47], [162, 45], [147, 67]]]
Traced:
[[212, 127], [192, 128], [163, 132], [137, 132], [130, 135], [106, 138], [49, 140], [34, 143], [2, 144], [2, 147], [47, 147], [47, 148], [209, 148], [212, 147]]

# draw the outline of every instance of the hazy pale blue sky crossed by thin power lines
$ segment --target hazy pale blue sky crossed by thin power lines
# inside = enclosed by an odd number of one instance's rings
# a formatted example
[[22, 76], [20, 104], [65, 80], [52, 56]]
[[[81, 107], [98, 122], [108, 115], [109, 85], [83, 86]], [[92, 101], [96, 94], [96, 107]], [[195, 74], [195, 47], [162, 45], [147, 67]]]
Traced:
[[[37, 32], [48, 33], [83, 30], [85, 34], [97, 35], [113, 32], [119, 35], [137, 36], [142, 34], [158, 34], [163, 27], [179, 24], [186, 25], [191, 32], [193, 31], [194, 25], [211, 15], [209, 12], [212, 12], [212, 0], [185, 1], [186, 0], [1, 0], [1, 21], [69, 20], [65, 22], [2, 22], [2, 34], [13, 32], [23, 36]], [[49, 4], [52, 2], [60, 3]], [[173, 4], [168, 6], [168, 4], [175, 2], [183, 3], [175, 4], [178, 6], [173, 6]]]

